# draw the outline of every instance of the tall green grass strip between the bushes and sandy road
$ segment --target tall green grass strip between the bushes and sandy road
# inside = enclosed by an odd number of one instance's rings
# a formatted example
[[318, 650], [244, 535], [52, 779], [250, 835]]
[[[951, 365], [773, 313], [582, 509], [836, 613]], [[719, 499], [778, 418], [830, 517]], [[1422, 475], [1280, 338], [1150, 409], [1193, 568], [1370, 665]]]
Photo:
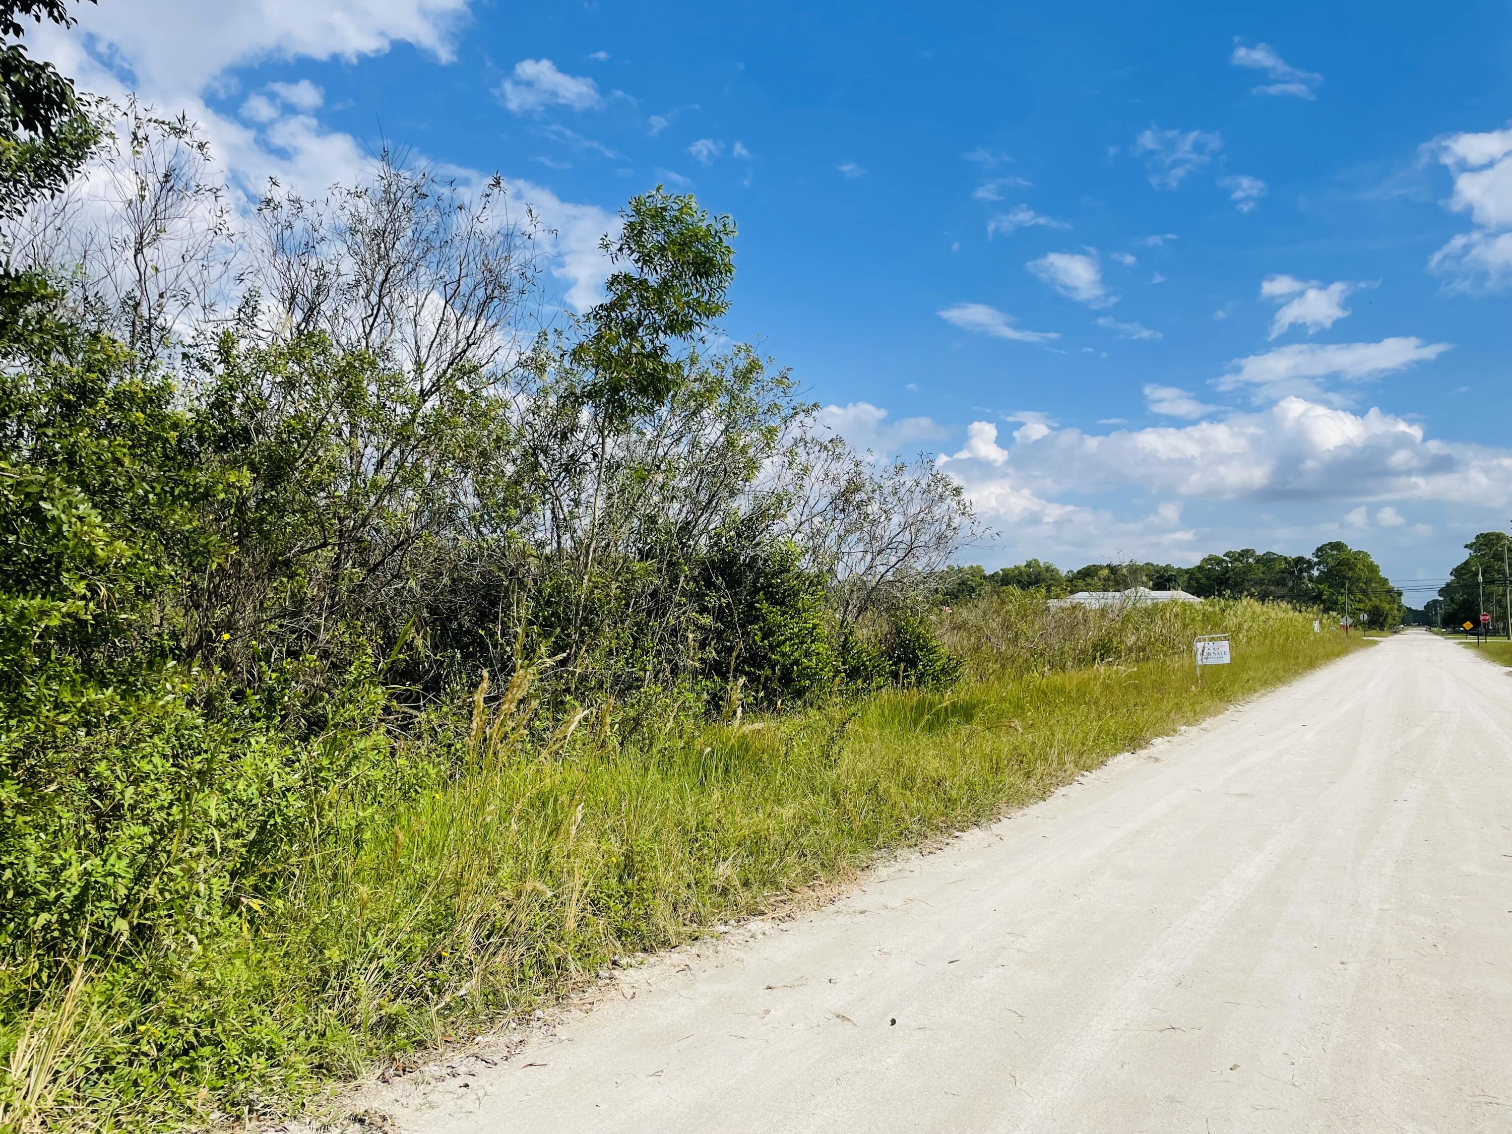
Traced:
[[[977, 674], [948, 692], [668, 721], [659, 741], [624, 747], [612, 721], [590, 720], [546, 751], [514, 739], [508, 702], [482, 714], [470, 771], [384, 804], [366, 838], [314, 836], [296, 883], [248, 910], [242, 934], [94, 975], [71, 1007], [50, 1002], [14, 1072], [42, 1078], [24, 1120], [166, 1126], [308, 1102], [375, 1060], [559, 998], [614, 957], [1043, 798], [1364, 646], [1256, 603], [1117, 624], [1034, 609], [948, 624], [959, 647], [975, 643]], [[1214, 629], [1232, 632], [1235, 661], [1199, 688], [1190, 635]], [[1005, 661], [1009, 640], [993, 635], [1010, 632], [1039, 647]]]

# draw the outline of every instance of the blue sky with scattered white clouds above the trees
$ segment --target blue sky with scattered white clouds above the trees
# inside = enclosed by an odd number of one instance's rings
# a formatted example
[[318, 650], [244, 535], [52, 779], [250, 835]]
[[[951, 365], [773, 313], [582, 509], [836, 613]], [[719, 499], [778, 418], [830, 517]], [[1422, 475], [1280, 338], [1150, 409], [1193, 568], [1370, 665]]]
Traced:
[[1512, 520], [1504, 3], [101, 0], [50, 50], [307, 189], [408, 147], [558, 228], [661, 181], [739, 225], [726, 327], [859, 445], [943, 455], [969, 558]]

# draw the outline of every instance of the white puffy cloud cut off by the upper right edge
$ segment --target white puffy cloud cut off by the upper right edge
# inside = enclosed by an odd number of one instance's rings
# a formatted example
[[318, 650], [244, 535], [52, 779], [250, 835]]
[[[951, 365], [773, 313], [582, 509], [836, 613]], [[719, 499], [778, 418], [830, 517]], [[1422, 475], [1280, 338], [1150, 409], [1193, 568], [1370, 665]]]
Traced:
[[1424, 147], [1455, 177], [1448, 207], [1470, 213], [1476, 228], [1433, 253], [1429, 266], [1453, 290], [1498, 290], [1512, 284], [1512, 125], [1458, 133]]

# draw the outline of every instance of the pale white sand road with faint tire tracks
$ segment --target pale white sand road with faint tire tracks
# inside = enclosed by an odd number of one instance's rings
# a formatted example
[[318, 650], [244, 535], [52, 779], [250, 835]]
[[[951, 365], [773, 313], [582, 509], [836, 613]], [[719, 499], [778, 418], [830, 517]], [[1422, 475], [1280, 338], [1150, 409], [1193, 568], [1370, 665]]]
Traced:
[[348, 1107], [414, 1134], [1512, 1131], [1512, 673], [1399, 635], [597, 999]]

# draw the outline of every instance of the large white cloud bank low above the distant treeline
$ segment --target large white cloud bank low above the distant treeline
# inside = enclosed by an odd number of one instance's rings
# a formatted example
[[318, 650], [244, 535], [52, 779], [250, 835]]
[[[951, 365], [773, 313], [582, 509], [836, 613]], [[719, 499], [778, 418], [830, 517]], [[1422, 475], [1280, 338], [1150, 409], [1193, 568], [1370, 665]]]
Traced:
[[[1187, 396], [1154, 387], [1151, 401]], [[972, 422], [966, 443], [939, 460], [977, 513], [1001, 528], [999, 562], [1034, 555], [1063, 565], [1111, 558], [1194, 562], [1238, 540], [1312, 546], [1337, 538], [1347, 510], [1359, 529], [1420, 537], [1408, 505], [1464, 508], [1468, 500], [1506, 499], [1512, 491], [1512, 452], [1433, 440], [1421, 425], [1380, 410], [1350, 413], [1300, 398], [1222, 420], [1140, 429], [1105, 419], [1102, 432], [1077, 428], [1036, 429], [1004, 438], [992, 422]], [[1095, 494], [1126, 500], [1131, 493], [1154, 505], [1087, 507]], [[1074, 494], [1074, 496], [1072, 496]], [[1275, 531], [1276, 505], [1288, 528]], [[1328, 510], [1318, 516], [1317, 505]], [[1223, 528], [1196, 528], [1187, 508]], [[1364, 511], [1356, 511], [1356, 510]], [[1317, 516], [1308, 523], [1303, 517]], [[1297, 526], [1297, 522], [1303, 526]], [[1474, 531], [1470, 528], [1468, 531]], [[1429, 532], [1430, 534], [1430, 532]], [[1219, 543], [1234, 540], [1232, 543]]]

